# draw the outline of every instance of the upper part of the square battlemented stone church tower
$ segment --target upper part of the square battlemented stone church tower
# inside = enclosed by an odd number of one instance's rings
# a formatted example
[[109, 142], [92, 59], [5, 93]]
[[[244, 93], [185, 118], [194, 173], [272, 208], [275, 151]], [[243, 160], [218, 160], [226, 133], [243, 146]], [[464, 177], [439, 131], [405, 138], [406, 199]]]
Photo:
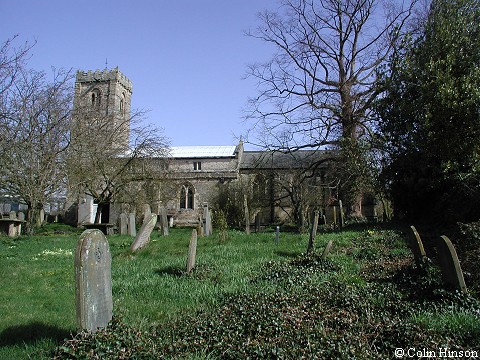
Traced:
[[104, 71], [78, 71], [75, 81], [74, 123], [82, 129], [116, 136], [117, 146], [128, 146], [130, 133], [131, 81], [118, 68]]

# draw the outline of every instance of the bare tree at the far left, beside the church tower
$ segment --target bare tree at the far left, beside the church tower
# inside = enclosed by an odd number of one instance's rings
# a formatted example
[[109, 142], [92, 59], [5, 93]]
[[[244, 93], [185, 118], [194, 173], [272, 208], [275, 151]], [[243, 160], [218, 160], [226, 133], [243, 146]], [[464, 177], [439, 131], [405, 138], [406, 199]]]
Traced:
[[[28, 206], [33, 225], [40, 209], [65, 189], [71, 73], [15, 69], [7, 76], [1, 121], [0, 189]], [[14, 78], [12, 78], [14, 76]]]

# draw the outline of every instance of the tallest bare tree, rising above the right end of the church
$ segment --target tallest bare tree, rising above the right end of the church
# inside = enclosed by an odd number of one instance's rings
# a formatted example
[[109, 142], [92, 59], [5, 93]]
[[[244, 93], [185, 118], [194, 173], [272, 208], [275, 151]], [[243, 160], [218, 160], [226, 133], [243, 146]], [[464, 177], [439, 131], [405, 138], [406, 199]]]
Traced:
[[[279, 12], [261, 14], [248, 35], [277, 52], [248, 69], [259, 87], [249, 102], [249, 142], [282, 152], [333, 146], [361, 158], [357, 145], [370, 133], [371, 104], [381, 92], [375, 72], [413, 1], [399, 8], [381, 0], [286, 0]], [[361, 210], [358, 201], [352, 213]]]

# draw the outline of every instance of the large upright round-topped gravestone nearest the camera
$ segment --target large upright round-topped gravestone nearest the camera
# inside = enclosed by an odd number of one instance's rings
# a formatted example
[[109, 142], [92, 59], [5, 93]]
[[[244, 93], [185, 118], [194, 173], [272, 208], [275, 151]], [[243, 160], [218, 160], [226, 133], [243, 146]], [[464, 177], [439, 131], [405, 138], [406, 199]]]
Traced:
[[112, 319], [112, 257], [105, 235], [85, 230], [75, 250], [77, 326], [95, 332]]

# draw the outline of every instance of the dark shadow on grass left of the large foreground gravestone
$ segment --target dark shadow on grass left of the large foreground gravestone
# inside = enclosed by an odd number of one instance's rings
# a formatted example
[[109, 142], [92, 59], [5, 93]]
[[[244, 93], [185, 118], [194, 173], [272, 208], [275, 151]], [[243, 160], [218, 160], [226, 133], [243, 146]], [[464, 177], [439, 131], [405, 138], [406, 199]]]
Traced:
[[63, 341], [70, 336], [70, 331], [56, 326], [32, 322], [26, 325], [15, 325], [0, 333], [0, 346], [17, 344], [33, 344], [37, 340], [51, 339]]

